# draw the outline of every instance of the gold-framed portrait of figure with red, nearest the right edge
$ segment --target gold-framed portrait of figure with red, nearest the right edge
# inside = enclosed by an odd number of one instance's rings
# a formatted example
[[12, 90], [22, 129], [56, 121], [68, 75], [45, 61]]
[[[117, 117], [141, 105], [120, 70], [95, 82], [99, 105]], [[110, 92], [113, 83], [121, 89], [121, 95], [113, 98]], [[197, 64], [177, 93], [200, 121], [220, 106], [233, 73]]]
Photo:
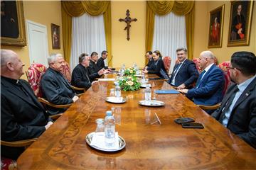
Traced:
[[230, 2], [228, 47], [245, 46], [250, 43], [253, 1]]

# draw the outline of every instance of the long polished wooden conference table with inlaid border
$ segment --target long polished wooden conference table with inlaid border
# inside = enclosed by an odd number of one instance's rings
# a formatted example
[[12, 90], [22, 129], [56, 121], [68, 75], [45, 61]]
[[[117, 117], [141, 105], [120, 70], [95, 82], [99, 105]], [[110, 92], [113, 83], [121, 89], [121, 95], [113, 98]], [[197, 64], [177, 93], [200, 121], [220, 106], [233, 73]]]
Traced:
[[[112, 77], [112, 75], [109, 75]], [[163, 80], [151, 89], [171, 89]], [[255, 169], [256, 150], [182, 94], [158, 94], [165, 106], [139, 106], [144, 89], [122, 91], [127, 102], [107, 103], [113, 81], [100, 81], [70, 106], [21, 157], [18, 169]], [[116, 130], [126, 147], [102, 152], [85, 142], [95, 120], [115, 108]], [[155, 113], [159, 122], [154, 123]], [[174, 119], [191, 117], [204, 129], [184, 129]], [[153, 123], [153, 124], [152, 124]]]

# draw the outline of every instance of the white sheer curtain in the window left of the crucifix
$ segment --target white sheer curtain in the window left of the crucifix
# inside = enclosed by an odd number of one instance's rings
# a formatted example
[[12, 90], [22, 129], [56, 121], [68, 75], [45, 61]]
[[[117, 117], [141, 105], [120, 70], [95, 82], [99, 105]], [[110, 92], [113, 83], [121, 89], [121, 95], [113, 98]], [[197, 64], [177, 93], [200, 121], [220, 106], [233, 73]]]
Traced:
[[97, 52], [101, 57], [101, 52], [106, 49], [103, 15], [90, 16], [85, 13], [72, 18], [71, 70], [78, 64], [81, 53], [90, 55]]

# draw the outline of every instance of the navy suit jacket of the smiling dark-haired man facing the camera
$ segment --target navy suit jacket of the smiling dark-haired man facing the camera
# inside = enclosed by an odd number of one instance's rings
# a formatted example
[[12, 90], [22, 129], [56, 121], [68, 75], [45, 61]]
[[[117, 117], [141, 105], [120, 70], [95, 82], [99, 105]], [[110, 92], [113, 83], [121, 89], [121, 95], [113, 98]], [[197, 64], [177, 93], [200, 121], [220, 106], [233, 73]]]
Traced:
[[[174, 71], [177, 69], [178, 64], [175, 64], [171, 78], [168, 83], [171, 84], [171, 81], [174, 79]], [[196, 69], [196, 64], [191, 60], [186, 59], [181, 68], [178, 69], [178, 72], [175, 77], [175, 86], [185, 84], [186, 88], [193, 86], [193, 83], [198, 79], [198, 71]]]

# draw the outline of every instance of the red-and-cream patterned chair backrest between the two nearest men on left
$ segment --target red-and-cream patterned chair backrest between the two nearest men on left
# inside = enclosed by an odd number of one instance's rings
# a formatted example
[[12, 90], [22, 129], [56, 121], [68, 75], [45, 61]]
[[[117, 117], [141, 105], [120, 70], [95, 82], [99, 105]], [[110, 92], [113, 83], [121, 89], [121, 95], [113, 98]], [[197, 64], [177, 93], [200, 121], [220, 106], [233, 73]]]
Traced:
[[42, 96], [39, 84], [42, 75], [46, 72], [46, 69], [47, 68], [43, 64], [33, 63], [30, 65], [30, 67], [28, 67], [28, 71], [26, 71], [28, 82], [31, 85], [35, 95], [38, 97]]

